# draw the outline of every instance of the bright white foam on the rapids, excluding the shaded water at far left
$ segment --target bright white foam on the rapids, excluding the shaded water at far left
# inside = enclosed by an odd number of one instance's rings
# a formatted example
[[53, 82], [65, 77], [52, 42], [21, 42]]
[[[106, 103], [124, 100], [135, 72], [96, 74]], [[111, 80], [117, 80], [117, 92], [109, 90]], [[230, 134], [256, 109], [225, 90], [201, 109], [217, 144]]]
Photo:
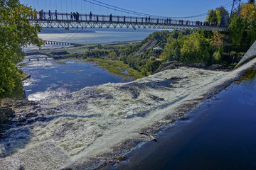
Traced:
[[[139, 131], [155, 123], [168, 123], [169, 120], [164, 119], [166, 115], [174, 114], [183, 103], [201, 98], [215, 86], [234, 79], [243, 69], [255, 63], [256, 59], [233, 72], [181, 67], [134, 81], [137, 83], [134, 86], [130, 83], [109, 83], [87, 87], [68, 96], [53, 94], [53, 97], [48, 97], [47, 93], [51, 92], [28, 96], [33, 100], [47, 96], [44, 106], [58, 107], [60, 112], [51, 115], [53, 120], [28, 125], [32, 134], [28, 145], [25, 149], [18, 150], [16, 154], [1, 159], [0, 166], [4, 164], [10, 168], [11, 164], [19, 162], [17, 164], [22, 163], [25, 168], [33, 167], [26, 165], [32, 164], [27, 154], [33, 152], [38, 153], [38, 160], [42, 160], [39, 161], [40, 164], [45, 164], [48, 169], [56, 169], [73, 162], [83, 162], [98, 154], [112, 152], [112, 147], [125, 140], [149, 140], [139, 135]], [[170, 81], [171, 86], [153, 88], [158, 81], [171, 78], [174, 78], [174, 82]], [[146, 83], [152, 83], [152, 87], [144, 86], [143, 84]], [[137, 95], [137, 98], [134, 95]], [[43, 157], [59, 158], [60, 155], [54, 152], [47, 152], [46, 155], [39, 153], [42, 148], [38, 149], [38, 144], [41, 143], [60, 148], [62, 152], [58, 153], [65, 153], [68, 157], [65, 159], [68, 161], [65, 164], [63, 160], [53, 162], [47, 159], [44, 162]], [[22, 159], [19, 155], [23, 155]], [[7, 163], [10, 166], [6, 165]], [[53, 166], [54, 164], [58, 166]]]

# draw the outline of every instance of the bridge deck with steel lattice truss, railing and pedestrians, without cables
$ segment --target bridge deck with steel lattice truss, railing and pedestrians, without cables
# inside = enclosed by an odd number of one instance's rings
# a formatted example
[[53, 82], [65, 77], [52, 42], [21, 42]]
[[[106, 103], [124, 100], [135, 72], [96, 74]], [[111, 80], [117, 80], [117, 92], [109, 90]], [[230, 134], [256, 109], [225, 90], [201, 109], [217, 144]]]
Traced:
[[[173, 30], [218, 30], [227, 32], [228, 25], [207, 23], [200, 21], [183, 21], [172, 18], [146, 18], [134, 16], [106, 16], [80, 14], [73, 18], [70, 13], [43, 13], [36, 18], [28, 18], [31, 24], [38, 24], [43, 28], [146, 28]], [[57, 15], [56, 15], [57, 14]]]

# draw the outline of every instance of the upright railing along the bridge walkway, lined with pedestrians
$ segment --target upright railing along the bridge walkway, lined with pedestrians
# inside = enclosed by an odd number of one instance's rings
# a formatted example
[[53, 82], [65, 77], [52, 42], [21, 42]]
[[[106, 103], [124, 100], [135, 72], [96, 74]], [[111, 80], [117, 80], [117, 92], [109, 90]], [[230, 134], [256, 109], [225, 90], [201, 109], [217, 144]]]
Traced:
[[150, 18], [150, 17], [134, 17], [134, 16], [112, 16], [112, 15], [90, 15], [79, 14], [78, 16], [71, 13], [55, 13], [43, 12], [37, 13], [36, 18], [28, 18], [38, 21], [72, 21], [72, 22], [109, 22], [109, 23], [137, 23], [137, 24], [155, 24], [155, 25], [181, 25], [181, 26], [213, 26], [227, 27], [218, 23], [208, 23], [201, 21], [177, 20], [172, 18]]

